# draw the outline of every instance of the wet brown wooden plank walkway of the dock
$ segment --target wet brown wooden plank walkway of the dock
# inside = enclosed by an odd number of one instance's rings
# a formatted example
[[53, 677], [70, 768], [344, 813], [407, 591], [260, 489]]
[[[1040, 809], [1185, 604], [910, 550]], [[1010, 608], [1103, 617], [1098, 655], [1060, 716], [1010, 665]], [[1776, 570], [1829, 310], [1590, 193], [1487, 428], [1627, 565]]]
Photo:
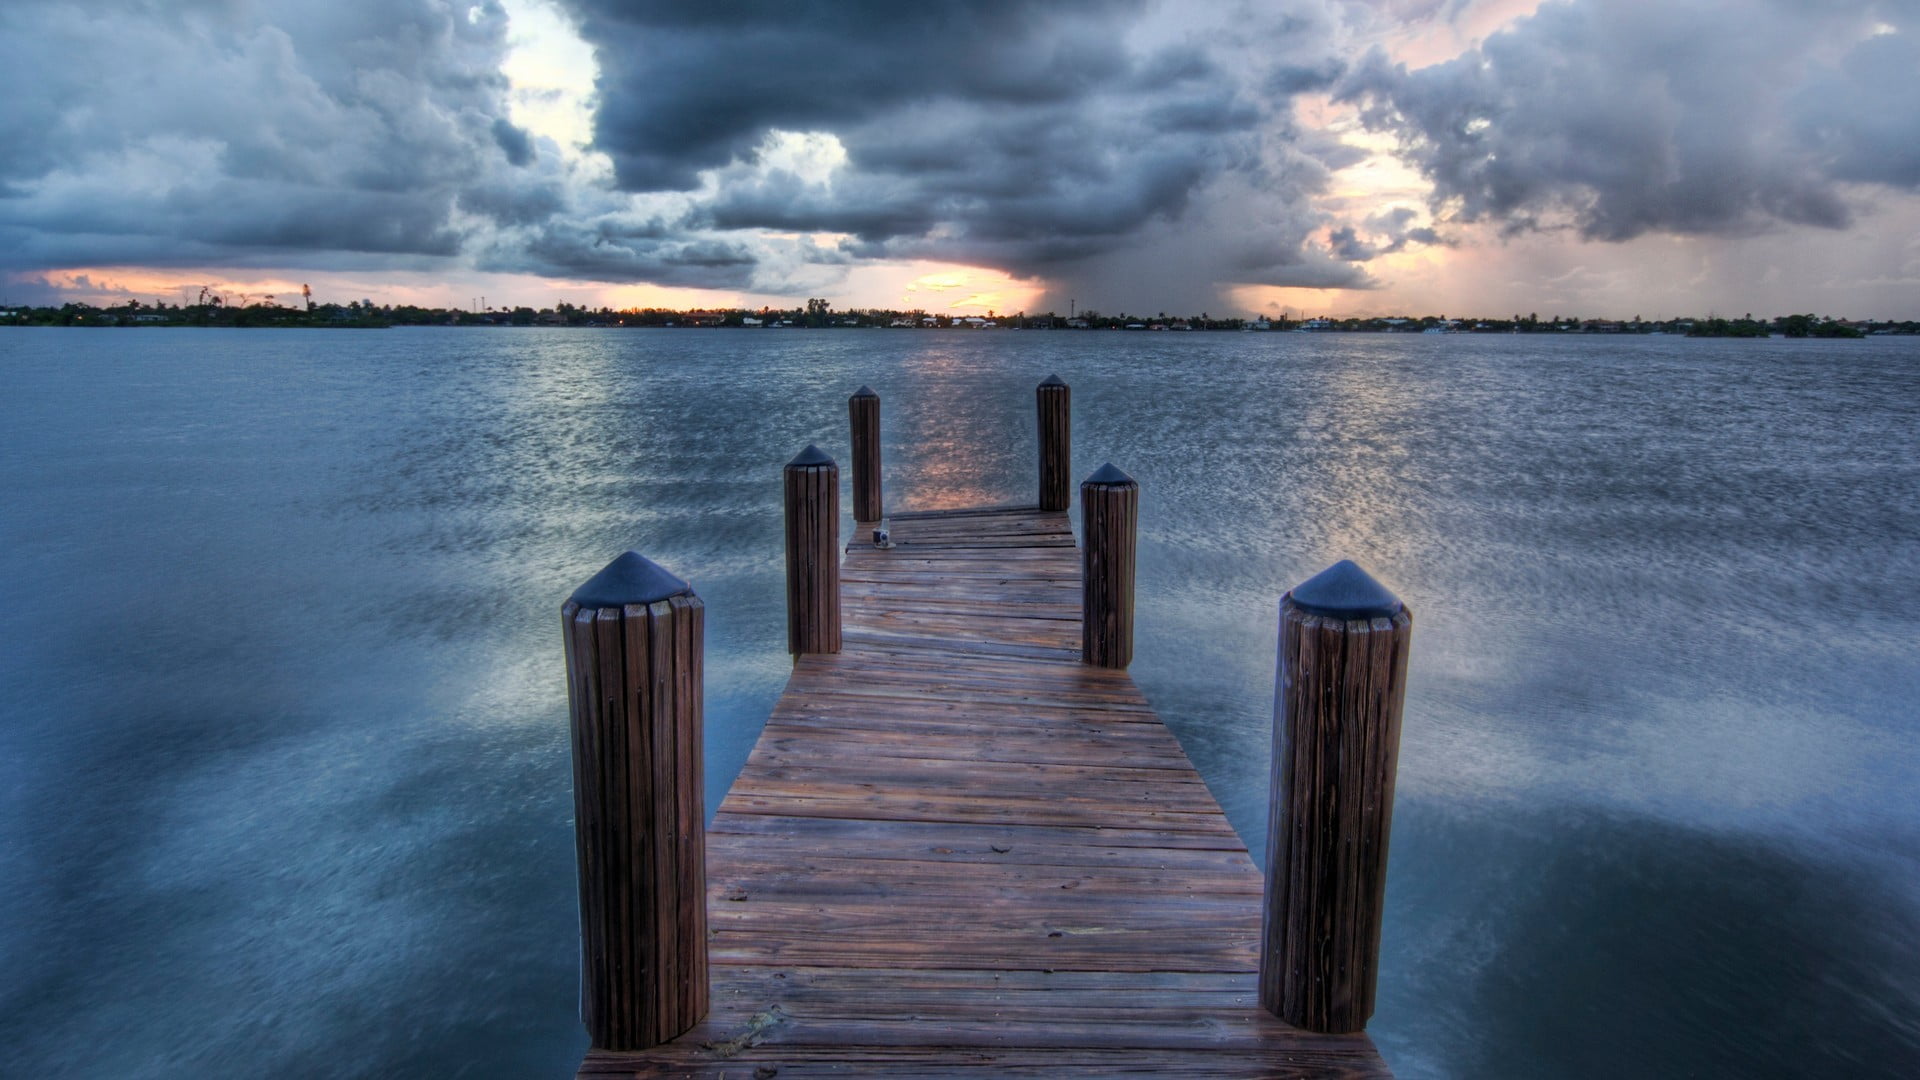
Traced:
[[893, 515], [707, 832], [712, 1013], [611, 1076], [1390, 1076], [1256, 1003], [1261, 878], [1123, 671], [1066, 513]]

